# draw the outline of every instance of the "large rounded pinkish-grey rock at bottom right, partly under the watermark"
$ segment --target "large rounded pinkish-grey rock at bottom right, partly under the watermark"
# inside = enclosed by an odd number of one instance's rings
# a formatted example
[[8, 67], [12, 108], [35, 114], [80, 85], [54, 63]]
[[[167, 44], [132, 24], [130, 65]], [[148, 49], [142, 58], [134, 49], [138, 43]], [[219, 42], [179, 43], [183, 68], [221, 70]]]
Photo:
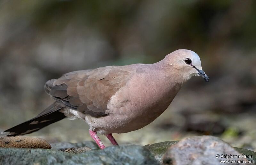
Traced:
[[[236, 158], [225, 159], [223, 155], [236, 155]], [[219, 138], [213, 136], [196, 136], [181, 140], [168, 148], [163, 162], [164, 164], [175, 165], [216, 165], [220, 164], [220, 160], [247, 161], [245, 158], [241, 158], [241, 155], [228, 143]], [[219, 158], [216, 156], [219, 156]]]

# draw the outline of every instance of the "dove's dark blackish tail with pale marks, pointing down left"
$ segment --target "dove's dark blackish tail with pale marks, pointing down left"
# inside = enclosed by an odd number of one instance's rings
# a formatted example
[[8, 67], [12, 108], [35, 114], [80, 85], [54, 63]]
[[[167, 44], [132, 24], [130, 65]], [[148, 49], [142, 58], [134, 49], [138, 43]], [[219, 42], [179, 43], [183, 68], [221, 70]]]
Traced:
[[33, 119], [16, 125], [2, 133], [9, 132], [7, 136], [17, 136], [38, 131], [49, 124], [55, 123], [65, 118], [66, 116], [62, 112], [60, 112], [60, 110], [63, 108], [64, 106], [62, 104], [54, 102], [52, 105], [50, 105]]

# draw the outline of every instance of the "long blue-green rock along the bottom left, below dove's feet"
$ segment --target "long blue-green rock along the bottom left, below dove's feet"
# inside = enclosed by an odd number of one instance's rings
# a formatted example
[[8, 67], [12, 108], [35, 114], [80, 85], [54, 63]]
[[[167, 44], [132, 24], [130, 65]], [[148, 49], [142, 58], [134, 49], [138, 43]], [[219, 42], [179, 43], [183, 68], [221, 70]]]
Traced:
[[109, 146], [104, 150], [92, 150], [70, 154], [56, 150], [0, 148], [0, 164], [158, 164], [154, 156], [137, 145]]

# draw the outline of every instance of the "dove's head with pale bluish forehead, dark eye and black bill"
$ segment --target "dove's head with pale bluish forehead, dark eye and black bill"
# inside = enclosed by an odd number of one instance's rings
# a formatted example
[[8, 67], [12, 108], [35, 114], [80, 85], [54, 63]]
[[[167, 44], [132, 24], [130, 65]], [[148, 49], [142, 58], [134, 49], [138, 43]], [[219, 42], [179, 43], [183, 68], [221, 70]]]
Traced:
[[165, 57], [165, 62], [173, 66], [184, 81], [193, 76], [202, 76], [205, 81], [209, 81], [208, 76], [202, 69], [199, 56], [191, 50], [176, 50]]

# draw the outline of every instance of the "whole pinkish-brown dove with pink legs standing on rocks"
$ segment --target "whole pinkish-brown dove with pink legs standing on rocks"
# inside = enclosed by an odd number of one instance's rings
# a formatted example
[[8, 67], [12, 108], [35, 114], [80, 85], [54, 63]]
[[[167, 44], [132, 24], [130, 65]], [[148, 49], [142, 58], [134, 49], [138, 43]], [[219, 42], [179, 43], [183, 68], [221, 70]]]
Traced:
[[51, 79], [44, 90], [55, 101], [36, 117], [2, 133], [25, 135], [66, 117], [89, 124], [100, 149], [97, 133], [118, 145], [113, 133], [135, 131], [153, 122], [171, 104], [181, 86], [193, 76], [209, 81], [200, 57], [179, 49], [154, 64], [105, 66], [73, 71]]

